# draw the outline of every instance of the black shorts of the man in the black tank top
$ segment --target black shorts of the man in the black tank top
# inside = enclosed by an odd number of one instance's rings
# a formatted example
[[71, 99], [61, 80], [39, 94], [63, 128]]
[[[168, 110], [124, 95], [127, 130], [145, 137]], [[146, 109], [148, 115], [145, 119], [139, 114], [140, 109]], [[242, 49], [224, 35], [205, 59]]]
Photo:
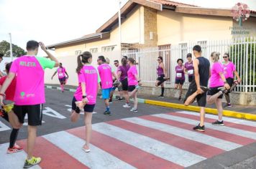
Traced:
[[[194, 92], [196, 92], [196, 90], [197, 90], [196, 82], [193, 81], [193, 82], [191, 82], [191, 84], [189, 84], [188, 92], [186, 93], [186, 97], [185, 97], [184, 102], [186, 102], [187, 98], [189, 96], [191, 96]], [[206, 92], [204, 92], [200, 95], [197, 95], [196, 96], [196, 101], [197, 101], [197, 105], [199, 107], [206, 107]]]

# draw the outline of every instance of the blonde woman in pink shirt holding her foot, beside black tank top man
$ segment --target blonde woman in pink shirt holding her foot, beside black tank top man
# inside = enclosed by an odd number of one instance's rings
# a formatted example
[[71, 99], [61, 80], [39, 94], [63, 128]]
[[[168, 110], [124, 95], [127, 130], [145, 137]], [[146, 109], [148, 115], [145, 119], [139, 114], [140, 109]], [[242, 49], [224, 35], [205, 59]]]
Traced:
[[224, 77], [224, 70], [219, 62], [219, 52], [211, 53], [211, 62], [213, 62], [211, 66], [211, 77], [210, 77], [210, 90], [207, 92], [206, 101], [208, 104], [213, 104], [215, 102], [219, 119], [216, 122], [212, 122], [213, 125], [224, 125], [222, 120], [222, 96], [225, 90], [229, 90], [229, 84], [227, 84], [227, 80]]

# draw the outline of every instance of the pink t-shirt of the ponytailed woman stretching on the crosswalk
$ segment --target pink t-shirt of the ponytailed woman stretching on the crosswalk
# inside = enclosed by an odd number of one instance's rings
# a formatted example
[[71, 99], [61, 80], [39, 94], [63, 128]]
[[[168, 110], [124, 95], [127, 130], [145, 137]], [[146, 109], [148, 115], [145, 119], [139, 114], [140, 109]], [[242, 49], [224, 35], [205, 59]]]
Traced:
[[78, 88], [74, 94], [76, 100], [83, 100], [83, 92], [81, 87], [81, 82], [86, 83], [86, 97], [88, 99], [88, 105], [96, 104], [97, 92], [98, 92], [98, 83], [101, 82], [99, 73], [97, 69], [91, 65], [84, 65], [78, 74]]

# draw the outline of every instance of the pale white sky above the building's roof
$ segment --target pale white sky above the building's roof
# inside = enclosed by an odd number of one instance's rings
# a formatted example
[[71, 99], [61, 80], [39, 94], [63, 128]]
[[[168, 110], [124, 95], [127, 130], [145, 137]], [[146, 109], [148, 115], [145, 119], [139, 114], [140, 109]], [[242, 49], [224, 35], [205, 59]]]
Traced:
[[[177, 0], [209, 8], [232, 8], [246, 3], [256, 11], [256, 0]], [[122, 0], [125, 4], [127, 0]], [[46, 45], [96, 32], [118, 11], [119, 0], [0, 0], [0, 42], [9, 41], [25, 49], [35, 39]]]

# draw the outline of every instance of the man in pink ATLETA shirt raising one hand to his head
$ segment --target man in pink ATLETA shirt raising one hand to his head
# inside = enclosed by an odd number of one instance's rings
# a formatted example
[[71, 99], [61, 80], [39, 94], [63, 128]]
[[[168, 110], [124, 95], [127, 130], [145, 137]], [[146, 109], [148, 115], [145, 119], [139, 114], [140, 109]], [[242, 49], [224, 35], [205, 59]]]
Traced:
[[[50, 59], [35, 57], [39, 46]], [[32, 156], [32, 151], [37, 137], [37, 125], [42, 125], [42, 104], [45, 103], [44, 69], [58, 66], [58, 60], [50, 52], [47, 52], [45, 44], [29, 41], [27, 42], [27, 55], [14, 60], [8, 77], [1, 87], [0, 102], [3, 105], [4, 92], [17, 75], [14, 113], [19, 119], [19, 127], [24, 123], [25, 115], [28, 117], [27, 159], [24, 168], [30, 168], [41, 161], [41, 158]]]

